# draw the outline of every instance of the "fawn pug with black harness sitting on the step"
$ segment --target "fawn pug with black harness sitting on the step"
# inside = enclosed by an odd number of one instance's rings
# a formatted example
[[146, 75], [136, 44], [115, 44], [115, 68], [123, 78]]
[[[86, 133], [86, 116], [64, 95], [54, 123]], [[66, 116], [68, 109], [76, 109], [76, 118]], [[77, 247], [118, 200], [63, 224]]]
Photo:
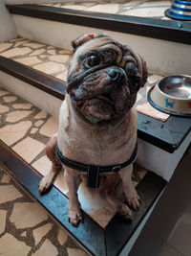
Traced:
[[[65, 167], [69, 188], [68, 219], [83, 221], [77, 189], [80, 182], [96, 189], [125, 219], [138, 210], [132, 183], [137, 156], [138, 89], [147, 81], [143, 58], [129, 46], [105, 34], [81, 35], [72, 42], [74, 58], [67, 77], [67, 94], [59, 113], [59, 128], [47, 144], [52, 168], [39, 184], [44, 193]], [[128, 205], [117, 199], [121, 182]]]

